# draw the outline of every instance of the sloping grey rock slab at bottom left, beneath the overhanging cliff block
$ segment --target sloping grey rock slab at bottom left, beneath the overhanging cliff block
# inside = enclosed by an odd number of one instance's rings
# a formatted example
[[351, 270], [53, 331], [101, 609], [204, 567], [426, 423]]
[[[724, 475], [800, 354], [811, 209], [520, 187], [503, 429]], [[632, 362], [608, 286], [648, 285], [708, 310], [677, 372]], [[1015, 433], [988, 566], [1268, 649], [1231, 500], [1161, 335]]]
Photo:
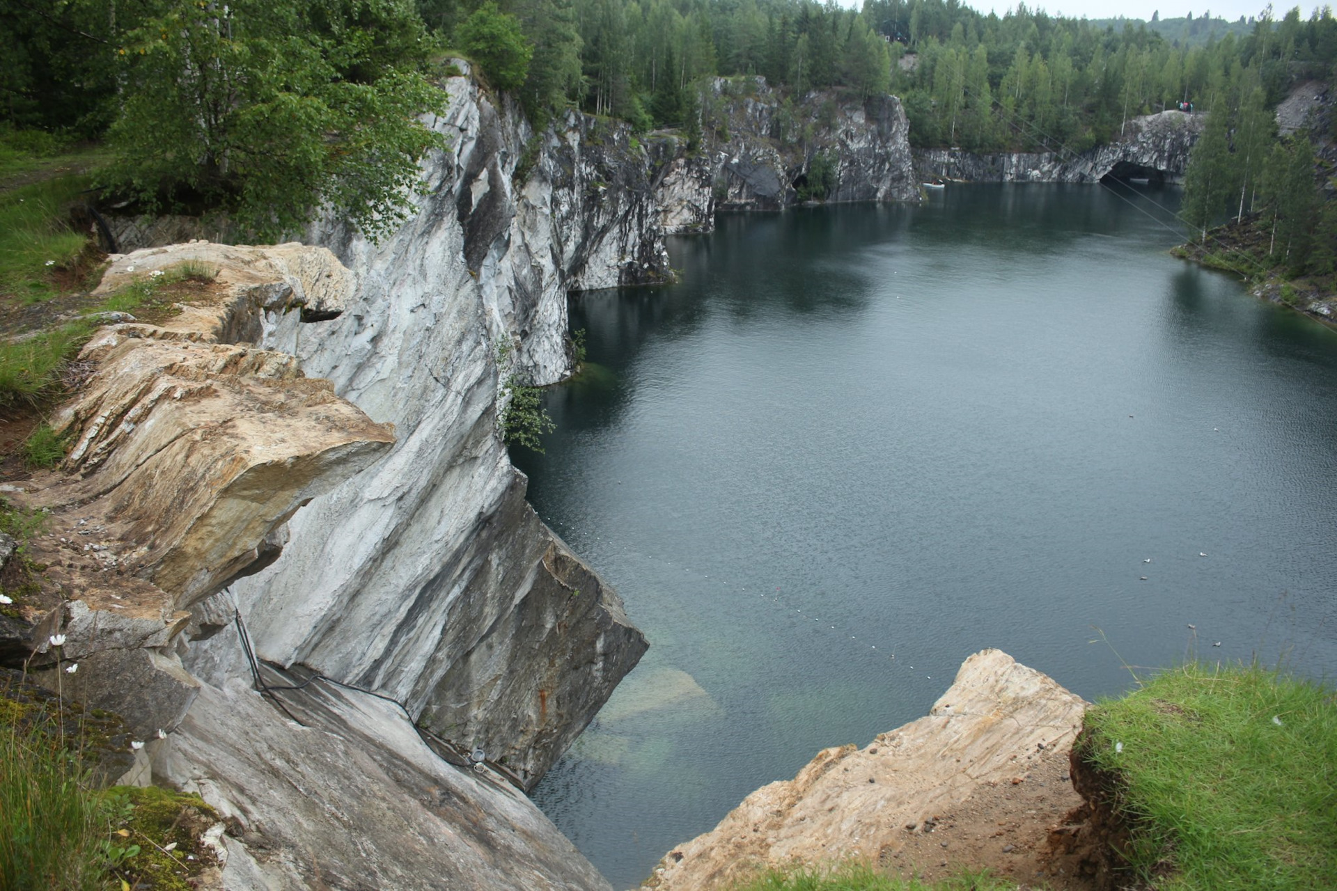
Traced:
[[158, 777], [229, 822], [223, 887], [611, 891], [521, 792], [443, 761], [394, 704], [324, 681], [273, 696], [297, 720], [230, 680], [148, 743]]

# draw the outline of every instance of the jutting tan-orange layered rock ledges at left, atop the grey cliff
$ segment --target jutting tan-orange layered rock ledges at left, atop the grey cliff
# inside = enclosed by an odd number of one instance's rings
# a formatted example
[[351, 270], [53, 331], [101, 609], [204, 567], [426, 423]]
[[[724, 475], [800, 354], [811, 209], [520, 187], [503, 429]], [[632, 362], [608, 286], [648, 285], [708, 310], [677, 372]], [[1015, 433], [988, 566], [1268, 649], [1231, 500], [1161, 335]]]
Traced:
[[[266, 311], [341, 311], [352, 282], [328, 250], [197, 242], [112, 259], [100, 293], [185, 263], [215, 277], [162, 325], [92, 338], [78, 395], [51, 418], [71, 438], [66, 462], [15, 497], [49, 512], [29, 552], [66, 597], [40, 622], [39, 652], [63, 633], [62, 659], [84, 663], [67, 692], [148, 735], [198, 695], [175, 653], [186, 610], [271, 561], [293, 513], [394, 434], [294, 357], [249, 342]], [[127, 687], [140, 695], [127, 701]]]

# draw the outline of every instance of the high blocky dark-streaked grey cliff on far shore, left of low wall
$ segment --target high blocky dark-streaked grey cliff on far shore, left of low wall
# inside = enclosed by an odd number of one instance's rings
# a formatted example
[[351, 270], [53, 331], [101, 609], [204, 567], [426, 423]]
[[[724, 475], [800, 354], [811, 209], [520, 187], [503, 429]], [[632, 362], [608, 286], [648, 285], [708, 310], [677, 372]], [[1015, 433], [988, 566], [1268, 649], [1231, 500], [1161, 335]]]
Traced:
[[830, 163], [830, 202], [917, 202], [919, 182], [896, 96], [813, 92], [786, 100], [763, 77], [717, 77], [702, 102], [702, 150], [674, 156], [656, 188], [668, 232], [705, 232], [718, 210], [800, 203], [814, 166]]

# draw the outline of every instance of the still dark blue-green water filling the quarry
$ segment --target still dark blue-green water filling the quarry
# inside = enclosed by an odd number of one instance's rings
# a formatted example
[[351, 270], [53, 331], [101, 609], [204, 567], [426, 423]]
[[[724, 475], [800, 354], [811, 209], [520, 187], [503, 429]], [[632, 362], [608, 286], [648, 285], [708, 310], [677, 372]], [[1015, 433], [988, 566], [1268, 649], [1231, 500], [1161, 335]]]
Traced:
[[615, 886], [985, 647], [1088, 699], [1190, 647], [1337, 675], [1337, 333], [1154, 202], [725, 216], [575, 299], [598, 367], [516, 458], [651, 649], [535, 797]]

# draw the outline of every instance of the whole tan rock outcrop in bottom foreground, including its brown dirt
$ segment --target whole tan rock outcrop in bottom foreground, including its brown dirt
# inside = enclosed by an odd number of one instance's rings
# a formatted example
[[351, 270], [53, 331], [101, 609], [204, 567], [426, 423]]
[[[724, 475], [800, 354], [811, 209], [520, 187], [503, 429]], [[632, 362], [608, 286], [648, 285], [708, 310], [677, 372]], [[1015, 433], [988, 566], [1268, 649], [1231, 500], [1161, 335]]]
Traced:
[[1091, 856], [1067, 819], [1083, 804], [1070, 753], [1088, 705], [1001, 651], [975, 653], [928, 716], [862, 748], [822, 749], [670, 851], [643, 887], [715, 891], [765, 868], [853, 858], [904, 878], [989, 866], [1088, 888]]

